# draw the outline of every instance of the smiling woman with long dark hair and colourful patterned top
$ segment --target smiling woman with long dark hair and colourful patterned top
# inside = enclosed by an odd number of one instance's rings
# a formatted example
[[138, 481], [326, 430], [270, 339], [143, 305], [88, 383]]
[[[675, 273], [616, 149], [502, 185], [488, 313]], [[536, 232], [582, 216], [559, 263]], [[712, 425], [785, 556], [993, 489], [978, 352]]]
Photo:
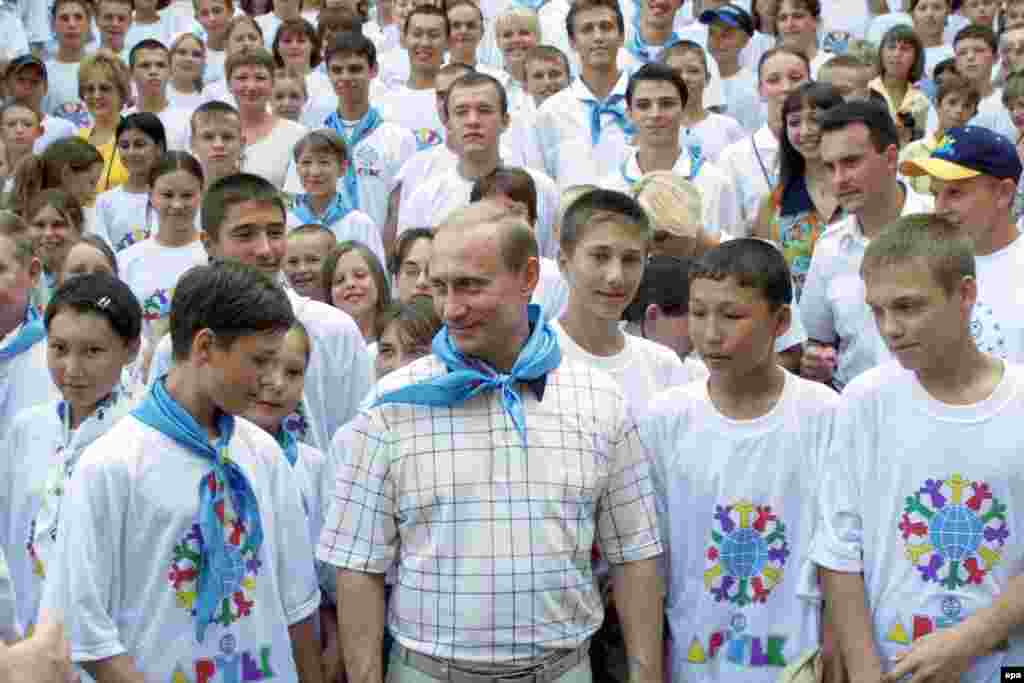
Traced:
[[840, 217], [839, 202], [821, 162], [818, 117], [843, 102], [826, 83], [807, 83], [782, 103], [779, 181], [761, 202], [754, 237], [778, 245], [793, 272], [799, 297], [811, 264], [814, 245], [824, 228]]

